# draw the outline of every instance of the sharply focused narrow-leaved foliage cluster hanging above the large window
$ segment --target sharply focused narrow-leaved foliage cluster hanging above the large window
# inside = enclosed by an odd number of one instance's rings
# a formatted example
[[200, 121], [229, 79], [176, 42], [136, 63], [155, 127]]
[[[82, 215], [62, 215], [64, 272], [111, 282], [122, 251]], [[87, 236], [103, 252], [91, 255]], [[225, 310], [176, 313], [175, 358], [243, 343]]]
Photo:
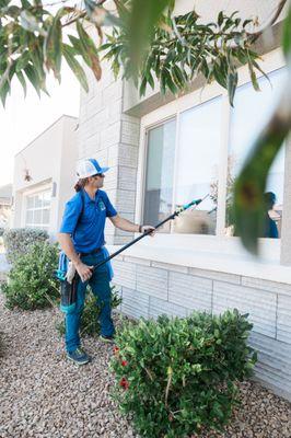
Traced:
[[226, 89], [233, 104], [237, 68], [242, 65], [248, 66], [254, 89], [259, 89], [256, 78], [256, 70], [261, 72], [259, 56], [252, 49], [253, 37], [246, 31], [252, 20], [242, 21], [237, 12], [228, 16], [221, 11], [217, 22], [201, 24], [195, 11], [173, 16], [170, 9], [141, 51], [130, 45], [127, 23], [131, 11], [125, 8], [123, 11], [125, 19], [107, 35], [101, 50], [105, 50], [115, 76], [121, 68], [126, 78], [139, 80], [140, 95], [144, 95], [148, 85], [153, 89], [156, 80], [163, 94], [166, 91], [177, 94], [201, 73], [207, 83], [217, 81]]

